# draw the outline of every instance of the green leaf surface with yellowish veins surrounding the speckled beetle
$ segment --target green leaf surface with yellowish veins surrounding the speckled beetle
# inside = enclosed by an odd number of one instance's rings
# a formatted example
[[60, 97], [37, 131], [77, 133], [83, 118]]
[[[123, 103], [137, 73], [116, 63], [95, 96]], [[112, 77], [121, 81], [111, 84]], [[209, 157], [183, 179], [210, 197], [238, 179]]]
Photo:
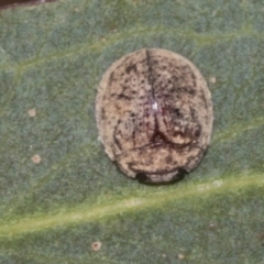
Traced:
[[[264, 263], [263, 12], [239, 0], [1, 11], [0, 263]], [[212, 92], [211, 146], [174, 185], [127, 178], [97, 139], [100, 78], [142, 47], [189, 58]]]

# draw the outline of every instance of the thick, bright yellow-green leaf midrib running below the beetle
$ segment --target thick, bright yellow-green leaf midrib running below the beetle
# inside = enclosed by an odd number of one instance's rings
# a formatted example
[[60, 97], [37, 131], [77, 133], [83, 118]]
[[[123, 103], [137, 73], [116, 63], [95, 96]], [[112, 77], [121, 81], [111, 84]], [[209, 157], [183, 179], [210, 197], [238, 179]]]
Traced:
[[151, 210], [170, 201], [182, 202], [186, 198], [195, 199], [200, 197], [201, 194], [204, 199], [210, 199], [216, 194], [235, 193], [240, 189], [263, 185], [263, 176], [264, 174], [251, 174], [249, 177], [248, 174], [241, 174], [235, 175], [235, 177], [222, 177], [213, 182], [208, 179], [204, 183], [194, 183], [177, 189], [174, 186], [172, 188], [165, 186], [161, 189], [144, 191], [144, 194], [139, 190], [122, 199], [118, 196], [112, 196], [111, 199], [100, 198], [100, 202], [92, 206], [81, 205], [78, 208], [62, 209], [62, 212], [58, 213], [29, 216], [14, 223], [2, 224], [0, 226], [0, 237], [37, 232], [58, 226], [95, 222], [120, 213]]

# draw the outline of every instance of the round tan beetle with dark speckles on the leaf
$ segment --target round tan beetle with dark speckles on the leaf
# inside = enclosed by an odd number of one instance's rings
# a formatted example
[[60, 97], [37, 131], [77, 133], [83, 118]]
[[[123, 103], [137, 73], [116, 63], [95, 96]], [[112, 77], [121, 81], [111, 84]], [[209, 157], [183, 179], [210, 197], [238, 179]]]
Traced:
[[172, 182], [195, 168], [209, 145], [211, 95], [185, 57], [140, 50], [103, 75], [96, 118], [106, 153], [124, 174], [145, 183]]

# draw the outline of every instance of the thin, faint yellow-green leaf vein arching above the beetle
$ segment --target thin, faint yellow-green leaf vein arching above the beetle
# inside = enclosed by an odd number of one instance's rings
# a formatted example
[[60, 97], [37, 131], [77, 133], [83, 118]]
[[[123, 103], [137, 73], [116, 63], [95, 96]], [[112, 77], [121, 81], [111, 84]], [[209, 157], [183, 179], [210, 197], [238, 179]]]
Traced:
[[108, 47], [109, 45], [112, 45], [117, 42], [122, 42], [124, 40], [134, 38], [134, 35], [157, 35], [157, 34], [165, 34], [165, 35], [175, 35], [175, 33], [178, 34], [178, 36], [190, 38], [193, 41], [196, 41], [196, 43], [199, 46], [207, 46], [207, 45], [213, 45], [216, 43], [221, 43], [223, 41], [232, 41], [237, 40], [238, 36], [241, 37], [254, 37], [262, 40], [264, 35], [260, 34], [260, 32], [255, 31], [251, 26], [242, 26], [238, 31], [233, 32], [218, 32], [218, 33], [197, 33], [195, 31], [190, 30], [179, 30], [176, 31], [174, 28], [163, 28], [163, 26], [142, 26], [142, 25], [135, 25], [131, 30], [124, 30], [117, 33], [110, 33], [109, 35], [106, 35], [103, 38], [96, 38], [91, 44], [87, 45], [87, 43], [90, 42], [90, 37], [87, 37], [84, 43], [79, 45], [74, 45], [74, 47], [59, 50], [59, 52], [53, 52], [50, 54], [46, 54], [44, 56], [37, 56], [34, 58], [24, 59], [19, 63], [14, 63], [13, 65], [10, 65], [10, 63], [0, 64], [0, 70], [4, 69], [6, 72], [20, 72], [20, 74], [24, 73], [29, 68], [33, 68], [37, 65], [44, 64], [46, 62], [51, 62], [54, 59], [61, 59], [68, 56], [77, 56], [78, 54], [84, 54], [87, 52], [98, 52], [100, 53], [103, 48]]

